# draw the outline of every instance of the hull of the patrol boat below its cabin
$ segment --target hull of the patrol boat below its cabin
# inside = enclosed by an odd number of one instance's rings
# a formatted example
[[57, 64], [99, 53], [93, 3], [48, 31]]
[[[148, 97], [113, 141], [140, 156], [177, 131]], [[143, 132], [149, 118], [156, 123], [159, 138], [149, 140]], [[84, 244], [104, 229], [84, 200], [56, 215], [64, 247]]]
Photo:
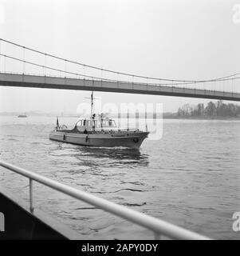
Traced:
[[49, 139], [58, 142], [67, 142], [84, 146], [123, 146], [139, 149], [148, 132], [134, 132], [123, 134], [80, 134], [66, 133], [63, 131], [53, 131], [49, 134]]

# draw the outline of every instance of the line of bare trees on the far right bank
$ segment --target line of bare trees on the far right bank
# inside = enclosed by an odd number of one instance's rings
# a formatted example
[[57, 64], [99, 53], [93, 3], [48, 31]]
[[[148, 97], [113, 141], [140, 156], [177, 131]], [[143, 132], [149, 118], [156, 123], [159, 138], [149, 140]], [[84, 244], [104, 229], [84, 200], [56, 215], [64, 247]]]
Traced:
[[203, 103], [196, 106], [185, 104], [179, 107], [178, 116], [240, 117], [240, 106], [233, 103], [225, 104], [222, 101], [208, 102], [205, 107]]

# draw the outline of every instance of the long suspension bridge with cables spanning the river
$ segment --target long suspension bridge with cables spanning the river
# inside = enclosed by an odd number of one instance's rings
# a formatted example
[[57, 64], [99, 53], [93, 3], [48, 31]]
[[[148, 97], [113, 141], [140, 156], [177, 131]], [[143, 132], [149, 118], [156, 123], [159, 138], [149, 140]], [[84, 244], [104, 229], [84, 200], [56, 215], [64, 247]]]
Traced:
[[239, 79], [240, 73], [207, 80], [128, 74], [61, 58], [0, 38], [0, 86], [240, 101]]

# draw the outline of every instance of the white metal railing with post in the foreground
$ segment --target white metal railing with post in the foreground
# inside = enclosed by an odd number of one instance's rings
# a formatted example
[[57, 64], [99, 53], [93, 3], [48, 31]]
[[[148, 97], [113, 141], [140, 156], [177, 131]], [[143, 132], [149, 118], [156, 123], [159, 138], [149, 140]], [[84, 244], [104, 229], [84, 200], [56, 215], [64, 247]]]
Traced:
[[81, 190], [77, 190], [71, 186], [67, 186], [60, 182], [53, 181], [50, 178], [45, 178], [39, 174], [35, 174], [32, 171], [25, 170], [18, 166], [14, 166], [10, 163], [0, 161], [0, 166], [14, 171], [14, 173], [21, 174], [30, 180], [30, 211], [33, 213], [33, 181], [39, 182], [45, 186], [49, 186], [53, 190], [58, 190], [64, 194], [77, 198], [83, 202], [87, 202], [92, 206], [99, 207], [111, 214], [115, 214], [120, 218], [124, 218], [130, 222], [134, 222], [140, 226], [144, 226], [148, 230], [151, 230], [155, 239], [159, 239], [161, 235], [172, 239], [190, 239], [190, 240], [208, 240], [203, 235], [196, 234], [190, 230], [183, 229], [182, 227], [175, 226], [171, 223], [164, 222], [158, 218], [142, 214], [136, 210], [128, 209], [125, 206], [117, 205], [116, 203], [109, 202], [103, 198], [98, 198], [92, 194], [86, 193]]

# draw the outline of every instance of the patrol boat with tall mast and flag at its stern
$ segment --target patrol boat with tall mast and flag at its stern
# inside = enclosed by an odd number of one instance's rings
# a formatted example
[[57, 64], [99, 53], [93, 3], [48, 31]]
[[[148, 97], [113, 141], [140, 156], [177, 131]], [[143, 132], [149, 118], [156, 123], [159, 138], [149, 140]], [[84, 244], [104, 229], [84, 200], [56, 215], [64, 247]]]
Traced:
[[92, 114], [93, 93], [91, 95], [91, 114], [89, 118], [80, 118], [72, 130], [65, 125], [57, 126], [49, 134], [49, 138], [59, 142], [68, 142], [84, 146], [128, 147], [139, 149], [148, 131], [139, 129], [119, 129], [115, 120], [104, 114]]

